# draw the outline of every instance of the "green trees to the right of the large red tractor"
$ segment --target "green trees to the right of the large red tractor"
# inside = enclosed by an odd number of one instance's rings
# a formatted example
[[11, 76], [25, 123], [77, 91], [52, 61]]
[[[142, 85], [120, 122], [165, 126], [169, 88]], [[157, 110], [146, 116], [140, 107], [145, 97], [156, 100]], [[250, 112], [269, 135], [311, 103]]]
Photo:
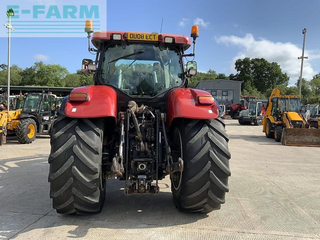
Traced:
[[[198, 72], [189, 80], [190, 87], [194, 87], [198, 81], [212, 79], [228, 79], [241, 81], [241, 94], [244, 96], [256, 96], [258, 99], [267, 99], [274, 88], [279, 88], [281, 94], [298, 95], [299, 79], [295, 85], [289, 86], [289, 76], [282, 72], [276, 62], [268, 62], [264, 58], [238, 59], [235, 63], [236, 74], [226, 76], [217, 74], [212, 69], [208, 72]], [[302, 78], [301, 99], [303, 104], [320, 104], [320, 73], [307, 81]]]

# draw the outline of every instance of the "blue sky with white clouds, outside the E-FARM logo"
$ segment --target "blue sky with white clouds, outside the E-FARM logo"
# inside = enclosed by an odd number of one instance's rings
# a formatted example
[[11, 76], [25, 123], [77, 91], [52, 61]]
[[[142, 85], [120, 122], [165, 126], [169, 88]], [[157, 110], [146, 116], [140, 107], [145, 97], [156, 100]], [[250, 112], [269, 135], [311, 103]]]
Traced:
[[[9, 0], [5, 0], [8, 1]], [[264, 57], [277, 61], [294, 83], [300, 75], [302, 29], [307, 28], [303, 76], [320, 71], [320, 1], [225, 0], [225, 1], [107, 1], [108, 30], [159, 32], [190, 35], [196, 22], [200, 37], [196, 61], [200, 71], [209, 68], [234, 73], [239, 57]], [[14, 26], [13, 26], [14, 27]], [[5, 31], [4, 27], [2, 31]], [[7, 62], [7, 38], [0, 38]], [[191, 48], [190, 48], [191, 50]], [[75, 72], [87, 52], [87, 38], [12, 38], [11, 63], [29, 67], [37, 60], [59, 63]]]

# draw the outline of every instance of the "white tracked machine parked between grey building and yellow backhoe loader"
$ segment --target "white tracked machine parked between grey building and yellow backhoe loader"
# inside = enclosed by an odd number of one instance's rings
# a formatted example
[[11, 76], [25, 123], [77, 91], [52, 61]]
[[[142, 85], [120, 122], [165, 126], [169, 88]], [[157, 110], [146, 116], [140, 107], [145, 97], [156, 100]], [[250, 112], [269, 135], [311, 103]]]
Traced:
[[262, 102], [249, 102], [248, 109], [239, 113], [238, 122], [240, 125], [252, 124], [261, 125], [262, 122]]

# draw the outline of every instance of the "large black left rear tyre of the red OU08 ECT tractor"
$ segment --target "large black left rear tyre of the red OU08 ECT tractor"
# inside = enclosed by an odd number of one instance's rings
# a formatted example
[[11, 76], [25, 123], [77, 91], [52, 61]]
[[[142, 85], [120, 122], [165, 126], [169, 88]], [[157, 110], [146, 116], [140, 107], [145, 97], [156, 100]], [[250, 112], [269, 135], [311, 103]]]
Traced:
[[54, 122], [48, 181], [57, 213], [101, 211], [106, 196], [101, 176], [103, 126], [99, 118], [59, 115]]

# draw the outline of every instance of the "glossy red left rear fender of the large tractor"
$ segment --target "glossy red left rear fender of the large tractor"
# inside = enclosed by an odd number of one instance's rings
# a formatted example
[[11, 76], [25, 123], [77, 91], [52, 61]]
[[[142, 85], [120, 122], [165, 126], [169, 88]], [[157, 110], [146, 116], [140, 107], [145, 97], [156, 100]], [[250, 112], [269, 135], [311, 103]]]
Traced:
[[[85, 101], [70, 101], [72, 93], [86, 93]], [[117, 118], [117, 93], [109, 86], [85, 86], [72, 90], [61, 104], [60, 112], [74, 118], [115, 117]]]

